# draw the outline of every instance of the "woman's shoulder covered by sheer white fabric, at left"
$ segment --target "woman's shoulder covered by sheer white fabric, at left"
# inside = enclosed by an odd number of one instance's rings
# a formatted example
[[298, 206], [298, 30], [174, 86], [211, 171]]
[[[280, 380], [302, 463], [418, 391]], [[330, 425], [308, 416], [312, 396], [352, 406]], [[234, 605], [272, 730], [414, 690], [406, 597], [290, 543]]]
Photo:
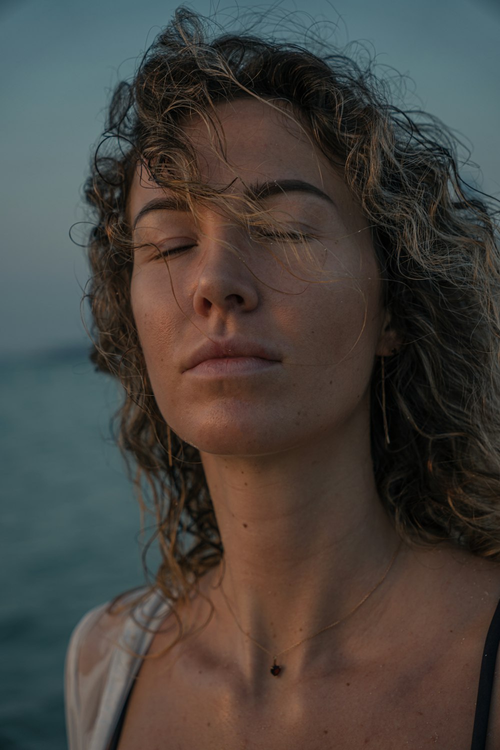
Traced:
[[108, 713], [113, 703], [119, 706], [130, 673], [148, 647], [148, 633], [141, 625], [148, 625], [160, 604], [157, 592], [136, 589], [94, 607], [73, 629], [64, 665], [70, 750], [88, 746], [103, 703]]

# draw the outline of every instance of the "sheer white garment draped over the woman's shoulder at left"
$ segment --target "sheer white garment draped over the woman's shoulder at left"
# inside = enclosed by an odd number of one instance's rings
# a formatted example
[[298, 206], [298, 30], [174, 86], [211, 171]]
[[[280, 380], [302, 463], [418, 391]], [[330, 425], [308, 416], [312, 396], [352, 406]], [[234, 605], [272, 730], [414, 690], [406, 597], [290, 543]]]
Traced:
[[[136, 601], [145, 590], [127, 594], [120, 605]], [[127, 608], [106, 616], [108, 605], [101, 604], [82, 617], [67, 647], [64, 708], [69, 750], [106, 750], [142, 656], [169, 611], [156, 589], [132, 613]], [[151, 631], [143, 630], [134, 617]]]

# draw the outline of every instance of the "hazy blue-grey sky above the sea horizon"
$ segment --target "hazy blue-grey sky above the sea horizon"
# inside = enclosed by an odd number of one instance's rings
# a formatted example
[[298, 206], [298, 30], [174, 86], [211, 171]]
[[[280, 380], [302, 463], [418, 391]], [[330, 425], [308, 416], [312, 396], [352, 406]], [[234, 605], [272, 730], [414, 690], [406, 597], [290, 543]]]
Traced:
[[[79, 299], [87, 272], [83, 251], [68, 232], [83, 215], [80, 190], [90, 146], [102, 130], [109, 90], [131, 74], [137, 55], [177, 5], [0, 0], [0, 355], [85, 341]], [[214, 7], [205, 0], [185, 5], [202, 13]], [[500, 197], [496, 2], [285, 0], [279, 5], [337, 23], [337, 44], [370, 43], [379, 65], [407, 74], [412, 104], [421, 104], [468, 139], [472, 159], [482, 167], [482, 189]], [[226, 18], [236, 14], [232, 2], [218, 7]], [[226, 23], [223, 13], [220, 21]]]

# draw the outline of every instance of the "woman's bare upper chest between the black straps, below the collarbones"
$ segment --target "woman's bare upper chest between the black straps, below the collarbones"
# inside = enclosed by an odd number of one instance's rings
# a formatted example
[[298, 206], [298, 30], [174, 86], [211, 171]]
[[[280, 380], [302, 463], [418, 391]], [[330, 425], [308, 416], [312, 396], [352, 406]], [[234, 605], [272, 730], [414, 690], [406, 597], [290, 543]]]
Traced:
[[196, 673], [193, 665], [145, 661], [118, 750], [469, 750], [480, 662], [469, 649], [440, 658], [410, 653], [295, 686], [284, 674], [270, 676], [261, 697], [245, 691], [230, 665]]

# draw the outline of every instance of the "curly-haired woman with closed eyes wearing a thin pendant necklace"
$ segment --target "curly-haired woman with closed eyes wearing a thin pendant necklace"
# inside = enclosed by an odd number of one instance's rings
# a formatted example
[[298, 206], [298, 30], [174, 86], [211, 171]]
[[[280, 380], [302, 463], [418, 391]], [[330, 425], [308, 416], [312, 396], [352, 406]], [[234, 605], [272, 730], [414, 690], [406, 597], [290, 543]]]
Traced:
[[379, 89], [181, 8], [115, 92], [94, 362], [163, 562], [73, 633], [72, 750], [500, 742], [491, 208]]

